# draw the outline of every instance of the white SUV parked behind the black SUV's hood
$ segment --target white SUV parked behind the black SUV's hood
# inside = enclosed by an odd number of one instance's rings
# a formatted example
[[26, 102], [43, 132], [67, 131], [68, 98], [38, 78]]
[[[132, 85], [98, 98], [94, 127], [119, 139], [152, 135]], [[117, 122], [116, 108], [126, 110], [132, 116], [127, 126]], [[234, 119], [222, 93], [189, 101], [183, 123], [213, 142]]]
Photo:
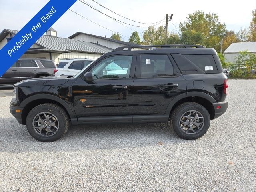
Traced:
[[75, 75], [88, 66], [93, 60], [87, 58], [76, 58], [62, 60], [54, 70], [55, 76]]

